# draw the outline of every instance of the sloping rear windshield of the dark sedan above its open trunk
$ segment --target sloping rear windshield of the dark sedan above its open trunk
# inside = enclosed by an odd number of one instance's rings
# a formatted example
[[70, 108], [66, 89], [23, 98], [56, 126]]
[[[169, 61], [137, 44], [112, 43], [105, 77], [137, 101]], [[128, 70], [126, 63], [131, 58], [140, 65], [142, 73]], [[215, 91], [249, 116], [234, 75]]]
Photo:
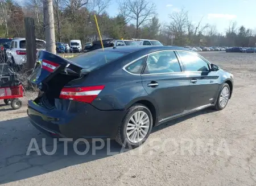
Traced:
[[101, 67], [102, 65], [114, 61], [119, 57], [125, 55], [125, 52], [112, 51], [92, 51], [69, 59], [84, 67], [84, 72], [90, 72], [93, 69]]

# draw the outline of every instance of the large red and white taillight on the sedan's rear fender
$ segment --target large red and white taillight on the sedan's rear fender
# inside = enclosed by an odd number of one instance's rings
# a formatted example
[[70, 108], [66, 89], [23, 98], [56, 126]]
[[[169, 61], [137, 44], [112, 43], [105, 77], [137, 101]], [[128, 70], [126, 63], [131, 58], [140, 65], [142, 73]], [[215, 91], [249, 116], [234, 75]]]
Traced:
[[63, 88], [60, 92], [60, 98], [65, 100], [75, 100], [90, 104], [100, 94], [105, 85], [86, 86], [77, 88]]

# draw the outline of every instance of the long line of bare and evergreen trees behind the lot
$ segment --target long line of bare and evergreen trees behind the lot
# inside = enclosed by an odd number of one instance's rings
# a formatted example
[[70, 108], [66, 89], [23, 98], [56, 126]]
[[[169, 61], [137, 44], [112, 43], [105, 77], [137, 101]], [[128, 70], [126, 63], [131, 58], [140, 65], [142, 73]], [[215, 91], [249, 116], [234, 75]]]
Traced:
[[[117, 15], [106, 11], [115, 0], [53, 0], [56, 42], [68, 43], [80, 39], [82, 43], [98, 40], [93, 15], [96, 14], [102, 39], [156, 39], [170, 46], [170, 35], [175, 35], [175, 46], [241, 46], [254, 47], [256, 33], [251, 28], [230, 21], [224, 34], [216, 25], [203, 24], [204, 17], [195, 23], [189, 11], [167, 13], [168, 22], [160, 23], [156, 5], [148, 0], [119, 0]], [[35, 35], [44, 39], [44, 8], [42, 0], [26, 0], [19, 5], [15, 0], [0, 1], [0, 36], [24, 37], [24, 17], [35, 19]]]

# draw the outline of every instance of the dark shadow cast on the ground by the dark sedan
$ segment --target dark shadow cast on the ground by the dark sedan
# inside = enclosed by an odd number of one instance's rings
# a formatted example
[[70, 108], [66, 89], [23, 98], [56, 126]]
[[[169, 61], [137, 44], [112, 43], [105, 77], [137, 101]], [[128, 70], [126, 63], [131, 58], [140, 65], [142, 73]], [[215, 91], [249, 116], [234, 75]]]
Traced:
[[[152, 132], [155, 133], [186, 119], [210, 112], [212, 110], [207, 109], [175, 119], [153, 128]], [[171, 127], [167, 130], [171, 130]], [[96, 150], [94, 155], [92, 148], [86, 155], [77, 155], [73, 150], [73, 143], [69, 143], [67, 155], [64, 155], [64, 143], [58, 142], [56, 153], [54, 155], [46, 155], [43, 152], [42, 139], [46, 139], [46, 150], [49, 152], [53, 150], [53, 139], [36, 130], [28, 121], [28, 117], [0, 122], [0, 135], [0, 184], [42, 175], [76, 164], [108, 158], [113, 153], [121, 153], [122, 150], [122, 147], [112, 140], [109, 146], [105, 145], [101, 150]], [[35, 138], [41, 155], [38, 155], [36, 151], [26, 155], [32, 138]], [[96, 143], [96, 146], [100, 146], [100, 143]], [[85, 144], [79, 144], [77, 149], [82, 152], [85, 147]], [[90, 147], [92, 147], [92, 143], [90, 143]], [[109, 152], [112, 152], [112, 154], [109, 154]], [[113, 162], [113, 164], [115, 163], [118, 162]]]

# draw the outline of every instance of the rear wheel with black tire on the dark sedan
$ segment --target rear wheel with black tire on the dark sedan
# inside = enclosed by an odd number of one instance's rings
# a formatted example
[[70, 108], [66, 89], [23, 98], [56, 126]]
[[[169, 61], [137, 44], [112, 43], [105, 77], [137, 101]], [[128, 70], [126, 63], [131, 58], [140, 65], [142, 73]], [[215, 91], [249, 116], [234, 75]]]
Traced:
[[131, 106], [118, 126], [115, 140], [125, 148], [139, 147], [150, 135], [152, 125], [152, 114], [146, 106], [141, 104]]

